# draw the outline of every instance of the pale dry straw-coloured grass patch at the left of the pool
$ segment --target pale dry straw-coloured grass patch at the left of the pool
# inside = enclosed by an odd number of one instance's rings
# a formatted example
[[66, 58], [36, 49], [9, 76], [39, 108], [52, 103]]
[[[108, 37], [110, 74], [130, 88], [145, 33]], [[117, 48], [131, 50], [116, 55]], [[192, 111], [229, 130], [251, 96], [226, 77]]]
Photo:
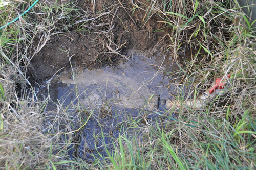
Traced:
[[[24, 82], [16, 68], [1, 65], [0, 84], [3, 87], [0, 100], [0, 165], [7, 169], [45, 167], [48, 164], [52, 139], [42, 134], [40, 105], [30, 97], [20, 98], [16, 83]], [[4, 95], [3, 95], [4, 94]]]

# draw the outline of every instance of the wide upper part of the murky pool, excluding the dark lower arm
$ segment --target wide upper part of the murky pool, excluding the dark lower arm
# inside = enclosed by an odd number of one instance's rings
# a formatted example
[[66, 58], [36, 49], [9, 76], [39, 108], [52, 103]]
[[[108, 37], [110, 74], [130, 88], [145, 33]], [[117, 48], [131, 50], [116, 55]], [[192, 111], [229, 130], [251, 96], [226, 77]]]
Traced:
[[115, 109], [133, 108], [154, 110], [157, 96], [168, 98], [173, 86], [169, 86], [170, 61], [164, 57], [145, 58], [134, 55], [130, 60], [117, 61], [118, 66], [96, 70], [62, 72], [51, 84], [56, 97], [69, 105], [100, 109], [111, 105]]

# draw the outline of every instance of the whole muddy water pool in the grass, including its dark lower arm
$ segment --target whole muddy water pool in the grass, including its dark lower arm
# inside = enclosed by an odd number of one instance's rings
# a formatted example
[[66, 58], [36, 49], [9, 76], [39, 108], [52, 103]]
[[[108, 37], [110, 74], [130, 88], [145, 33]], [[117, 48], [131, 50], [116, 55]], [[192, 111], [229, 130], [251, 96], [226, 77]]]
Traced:
[[79, 146], [70, 149], [71, 155], [76, 153], [91, 161], [98, 153], [106, 156], [104, 145], [110, 146], [120, 134], [129, 132], [127, 120], [158, 117], [156, 112], [164, 111], [165, 99], [176, 91], [170, 81], [177, 67], [170, 58], [133, 55], [129, 60], [117, 60], [114, 65], [62, 72], [50, 83], [53, 102], [48, 110], [56, 109], [58, 101], [70, 114], [76, 114], [77, 108], [93, 112], [79, 132]]

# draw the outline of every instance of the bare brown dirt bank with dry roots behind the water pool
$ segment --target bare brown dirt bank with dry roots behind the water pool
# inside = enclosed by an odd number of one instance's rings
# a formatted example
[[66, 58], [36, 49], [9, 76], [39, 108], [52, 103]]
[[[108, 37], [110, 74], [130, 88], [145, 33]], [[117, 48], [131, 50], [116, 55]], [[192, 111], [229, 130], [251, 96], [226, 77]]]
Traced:
[[77, 25], [82, 28], [80, 31], [50, 37], [31, 60], [35, 79], [50, 78], [59, 69], [70, 68], [71, 64], [89, 69], [112, 64], [131, 49], [145, 56], [170, 54], [166, 36], [169, 27], [158, 22], [162, 21], [161, 17], [149, 12], [148, 5], [138, 4], [144, 10], [131, 10], [130, 1], [100, 0], [95, 5], [78, 1], [81, 12], [86, 12], [91, 19]]

